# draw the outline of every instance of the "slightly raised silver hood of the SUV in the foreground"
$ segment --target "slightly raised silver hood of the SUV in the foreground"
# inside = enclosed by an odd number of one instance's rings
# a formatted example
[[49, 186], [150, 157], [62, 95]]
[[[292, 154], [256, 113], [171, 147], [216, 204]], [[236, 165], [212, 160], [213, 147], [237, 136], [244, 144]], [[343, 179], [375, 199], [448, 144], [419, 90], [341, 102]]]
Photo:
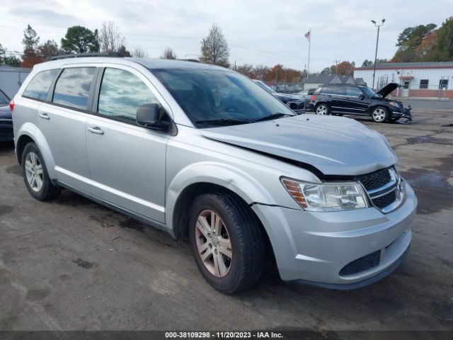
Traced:
[[383, 135], [350, 118], [299, 115], [200, 132], [211, 140], [314, 167], [321, 172], [318, 176], [368, 174], [398, 161]]

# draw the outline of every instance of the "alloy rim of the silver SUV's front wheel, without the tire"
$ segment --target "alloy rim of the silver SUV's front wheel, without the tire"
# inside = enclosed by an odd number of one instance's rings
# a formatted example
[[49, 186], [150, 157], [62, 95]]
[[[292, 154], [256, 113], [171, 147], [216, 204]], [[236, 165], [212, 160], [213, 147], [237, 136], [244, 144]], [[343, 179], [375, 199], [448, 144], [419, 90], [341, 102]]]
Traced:
[[203, 210], [195, 224], [198, 254], [203, 264], [217, 278], [226, 276], [233, 259], [228, 230], [216, 212]]

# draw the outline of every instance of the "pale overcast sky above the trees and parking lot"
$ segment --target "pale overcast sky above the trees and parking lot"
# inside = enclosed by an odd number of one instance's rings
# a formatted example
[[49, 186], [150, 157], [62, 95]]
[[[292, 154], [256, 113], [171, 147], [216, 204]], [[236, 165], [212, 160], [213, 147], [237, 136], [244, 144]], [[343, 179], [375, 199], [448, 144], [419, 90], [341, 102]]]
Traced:
[[200, 40], [212, 23], [223, 30], [230, 47], [230, 63], [277, 63], [304, 69], [311, 28], [310, 71], [320, 71], [335, 60], [374, 59], [377, 29], [370, 20], [386, 23], [379, 38], [379, 58], [391, 58], [398, 33], [406, 27], [435, 23], [453, 15], [453, 0], [1, 0], [0, 43], [23, 50], [27, 23], [41, 41], [58, 43], [69, 26], [94, 30], [113, 21], [129, 50], [142, 47], [159, 57], [165, 47], [179, 58], [200, 54]]

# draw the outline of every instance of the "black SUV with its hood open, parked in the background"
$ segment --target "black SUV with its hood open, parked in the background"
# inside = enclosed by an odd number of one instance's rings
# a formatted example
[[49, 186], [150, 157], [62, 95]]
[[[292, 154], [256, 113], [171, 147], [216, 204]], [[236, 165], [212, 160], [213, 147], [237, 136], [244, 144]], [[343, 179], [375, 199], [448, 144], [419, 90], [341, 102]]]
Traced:
[[327, 84], [319, 86], [311, 96], [309, 110], [317, 115], [366, 115], [375, 123], [412, 121], [411, 106], [386, 98], [399, 85], [390, 83], [377, 93], [367, 86]]

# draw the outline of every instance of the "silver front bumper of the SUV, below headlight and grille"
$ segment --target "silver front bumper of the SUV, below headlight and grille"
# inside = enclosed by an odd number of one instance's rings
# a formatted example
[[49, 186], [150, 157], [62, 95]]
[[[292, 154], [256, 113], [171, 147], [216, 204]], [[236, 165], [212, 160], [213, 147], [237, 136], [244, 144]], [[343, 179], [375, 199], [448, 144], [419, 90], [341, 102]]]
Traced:
[[[259, 204], [252, 208], [268, 232], [282, 280], [353, 289], [379, 280], [401, 263], [411, 244], [416, 206], [417, 198], [406, 183], [406, 199], [387, 214], [376, 208], [340, 212]], [[372, 254], [374, 266], [352, 273], [344, 270]]]

